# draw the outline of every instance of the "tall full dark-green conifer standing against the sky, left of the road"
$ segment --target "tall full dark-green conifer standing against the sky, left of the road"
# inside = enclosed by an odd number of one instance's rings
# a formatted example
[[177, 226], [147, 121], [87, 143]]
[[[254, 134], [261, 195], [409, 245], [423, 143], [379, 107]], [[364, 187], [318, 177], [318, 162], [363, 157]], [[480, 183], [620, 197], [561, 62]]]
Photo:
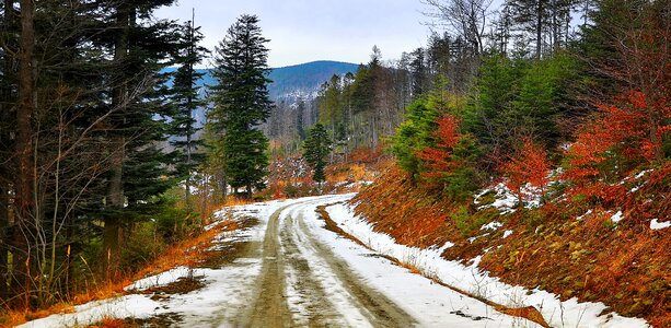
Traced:
[[269, 116], [266, 78], [268, 39], [262, 36], [258, 17], [242, 15], [228, 30], [216, 49], [212, 71], [217, 85], [211, 86], [210, 129], [220, 136], [216, 142], [223, 155], [223, 172], [228, 184], [238, 190], [264, 188], [268, 166], [268, 139], [258, 129]]

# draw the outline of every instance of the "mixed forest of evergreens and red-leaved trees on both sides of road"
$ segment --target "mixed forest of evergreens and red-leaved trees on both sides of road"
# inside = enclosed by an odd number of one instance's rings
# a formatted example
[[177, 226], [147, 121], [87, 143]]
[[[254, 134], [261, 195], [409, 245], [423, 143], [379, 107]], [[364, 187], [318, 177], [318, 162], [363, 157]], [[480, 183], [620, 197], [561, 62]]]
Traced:
[[[671, 1], [418, 1], [425, 47], [385, 60], [374, 46], [314, 97], [274, 103], [255, 15], [210, 51], [193, 20], [154, 17], [174, 0], [4, 0], [0, 308], [95, 293], [221, 204], [327, 192], [362, 165], [381, 184], [361, 211], [423, 190], [415, 206], [444, 204], [435, 227], [463, 238], [499, 183], [531, 231], [588, 209], [597, 235], [616, 211], [633, 236], [671, 218]], [[199, 87], [208, 58], [215, 84]], [[663, 318], [668, 296], [628, 314]]]

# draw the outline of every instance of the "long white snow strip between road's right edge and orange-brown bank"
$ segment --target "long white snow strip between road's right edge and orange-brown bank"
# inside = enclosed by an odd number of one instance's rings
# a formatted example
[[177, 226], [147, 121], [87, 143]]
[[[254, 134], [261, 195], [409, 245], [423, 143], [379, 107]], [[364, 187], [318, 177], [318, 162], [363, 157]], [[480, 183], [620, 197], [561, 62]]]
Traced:
[[344, 231], [371, 249], [406, 263], [410, 261], [410, 265], [425, 276], [496, 303], [509, 306], [535, 306], [552, 327], [648, 327], [645, 320], [638, 318], [625, 318], [613, 313], [600, 316], [606, 308], [603, 303], [579, 303], [577, 298], [562, 302], [556, 294], [506, 284], [477, 268], [481, 257], [464, 266], [458, 261], [443, 259], [431, 248], [420, 249], [400, 245], [391, 236], [374, 232], [370, 223], [356, 216], [354, 210], [345, 204], [332, 206], [326, 210], [331, 219]]

